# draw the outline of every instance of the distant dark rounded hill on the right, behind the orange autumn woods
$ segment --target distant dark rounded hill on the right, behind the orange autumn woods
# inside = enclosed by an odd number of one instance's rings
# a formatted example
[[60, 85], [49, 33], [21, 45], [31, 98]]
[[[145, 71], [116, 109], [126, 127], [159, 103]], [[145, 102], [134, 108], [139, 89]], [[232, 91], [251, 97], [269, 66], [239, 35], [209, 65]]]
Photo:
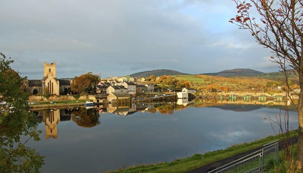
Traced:
[[258, 76], [263, 74], [263, 72], [251, 69], [233, 69], [233, 70], [223, 70], [218, 73], [202, 73], [203, 75], [211, 76], [223, 76], [223, 77], [233, 77], [233, 76]]

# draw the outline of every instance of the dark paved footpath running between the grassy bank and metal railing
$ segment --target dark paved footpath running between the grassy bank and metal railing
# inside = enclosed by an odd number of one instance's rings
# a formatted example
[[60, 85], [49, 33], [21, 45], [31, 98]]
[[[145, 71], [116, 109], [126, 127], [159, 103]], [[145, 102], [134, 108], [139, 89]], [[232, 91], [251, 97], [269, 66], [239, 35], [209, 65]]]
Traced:
[[[289, 141], [292, 144], [295, 144], [295, 143], [298, 142], [298, 137], [292, 137], [292, 138], [289, 139]], [[279, 142], [279, 150], [282, 150], [284, 148], [284, 142], [285, 141], [280, 141]], [[210, 171], [210, 170], [213, 170], [215, 168], [219, 168], [219, 167], [221, 167], [223, 165], [226, 165], [226, 164], [228, 164], [228, 163], [230, 163], [232, 161], [235, 161], [235, 160], [237, 160], [239, 158], [242, 158], [242, 157], [244, 157], [244, 156], [246, 156], [248, 154], [251, 154], [251, 153], [253, 153], [255, 151], [258, 151], [260, 149], [262, 149], [262, 147], [255, 148], [253, 150], [246, 151], [246, 152], [243, 152], [243, 153], [240, 153], [240, 154], [237, 154], [237, 155], [234, 155], [234, 156], [231, 156], [229, 158], [225, 158], [225, 159], [222, 159], [222, 160], [219, 160], [219, 161], [215, 161], [215, 162], [210, 163], [208, 165], [204, 165], [204, 166], [201, 166], [199, 168], [196, 168], [196, 169], [193, 169], [191, 171], [188, 171], [188, 173], [206, 173], [206, 172], [212, 173], [212, 171]]]

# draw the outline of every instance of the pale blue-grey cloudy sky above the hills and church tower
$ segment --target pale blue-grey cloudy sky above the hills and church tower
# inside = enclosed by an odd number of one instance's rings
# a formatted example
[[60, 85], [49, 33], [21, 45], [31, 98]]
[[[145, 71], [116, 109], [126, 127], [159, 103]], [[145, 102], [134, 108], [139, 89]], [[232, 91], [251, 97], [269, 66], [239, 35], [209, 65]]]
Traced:
[[42, 79], [43, 62], [56, 62], [58, 78], [278, 71], [269, 49], [228, 22], [237, 14], [231, 0], [2, 0], [0, 6], [0, 52], [28, 79]]

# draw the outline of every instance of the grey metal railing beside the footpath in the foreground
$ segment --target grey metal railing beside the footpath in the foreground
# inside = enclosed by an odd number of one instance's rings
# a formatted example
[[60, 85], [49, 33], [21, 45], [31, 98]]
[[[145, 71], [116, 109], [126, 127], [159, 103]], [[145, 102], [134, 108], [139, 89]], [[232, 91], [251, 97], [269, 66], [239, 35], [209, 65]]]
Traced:
[[[278, 140], [277, 140], [278, 141]], [[239, 158], [217, 169], [209, 171], [210, 173], [239, 173], [239, 172], [263, 172], [263, 168], [270, 161], [278, 161], [278, 142], [273, 141], [263, 145], [263, 148], [255, 151], [245, 157]]]

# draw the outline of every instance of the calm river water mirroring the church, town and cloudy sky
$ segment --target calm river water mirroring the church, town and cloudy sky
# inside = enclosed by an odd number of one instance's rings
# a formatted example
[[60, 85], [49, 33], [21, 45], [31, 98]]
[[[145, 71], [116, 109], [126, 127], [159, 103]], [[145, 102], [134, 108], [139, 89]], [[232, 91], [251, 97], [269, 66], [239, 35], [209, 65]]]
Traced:
[[[46, 156], [42, 172], [103, 172], [170, 162], [274, 134], [264, 118], [279, 115], [279, 104], [178, 100], [33, 110], [41, 122], [41, 141], [27, 145]], [[289, 109], [290, 127], [296, 129], [297, 112]]]

